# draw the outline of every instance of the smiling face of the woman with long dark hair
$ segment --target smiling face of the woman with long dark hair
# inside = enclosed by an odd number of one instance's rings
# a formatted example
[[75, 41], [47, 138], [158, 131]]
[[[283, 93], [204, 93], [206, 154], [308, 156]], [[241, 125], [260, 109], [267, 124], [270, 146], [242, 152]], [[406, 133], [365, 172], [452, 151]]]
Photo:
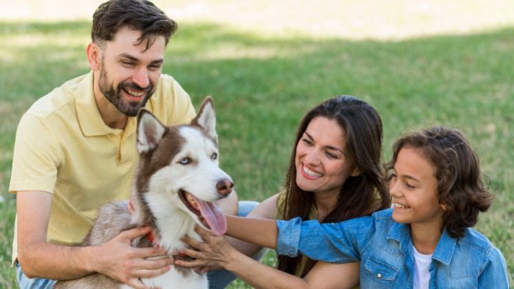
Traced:
[[348, 158], [346, 132], [336, 120], [313, 118], [297, 144], [297, 184], [303, 191], [337, 193], [347, 178], [358, 175]]

